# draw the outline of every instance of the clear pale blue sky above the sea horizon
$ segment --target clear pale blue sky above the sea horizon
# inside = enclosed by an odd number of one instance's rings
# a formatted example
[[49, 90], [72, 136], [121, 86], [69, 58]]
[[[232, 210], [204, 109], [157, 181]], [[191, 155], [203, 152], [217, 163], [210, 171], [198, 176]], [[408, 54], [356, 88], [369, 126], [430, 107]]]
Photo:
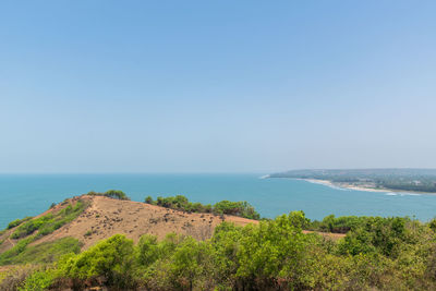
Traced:
[[0, 172], [436, 168], [435, 13], [1, 1]]

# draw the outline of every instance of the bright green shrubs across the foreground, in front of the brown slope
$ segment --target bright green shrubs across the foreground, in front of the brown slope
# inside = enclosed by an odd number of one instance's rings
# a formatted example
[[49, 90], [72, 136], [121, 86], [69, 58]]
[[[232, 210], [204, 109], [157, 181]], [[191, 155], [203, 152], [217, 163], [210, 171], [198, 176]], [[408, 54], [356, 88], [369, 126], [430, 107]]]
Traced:
[[118, 234], [35, 271], [21, 286], [76, 290], [92, 286], [121, 290], [436, 288], [435, 221], [354, 219], [346, 238], [337, 242], [304, 234], [302, 229], [310, 222], [302, 211], [246, 227], [223, 222], [207, 241], [169, 234], [159, 242], [146, 234], [134, 244]]

